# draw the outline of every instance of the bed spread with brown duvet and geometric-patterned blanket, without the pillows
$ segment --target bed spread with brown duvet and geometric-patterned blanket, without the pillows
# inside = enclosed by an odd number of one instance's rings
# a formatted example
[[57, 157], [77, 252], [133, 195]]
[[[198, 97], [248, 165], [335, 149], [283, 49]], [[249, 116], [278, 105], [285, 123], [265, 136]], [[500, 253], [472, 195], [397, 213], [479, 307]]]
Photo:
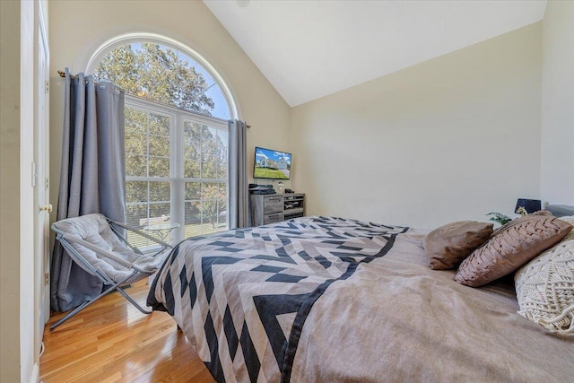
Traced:
[[574, 381], [511, 278], [431, 270], [428, 231], [304, 217], [186, 239], [151, 285], [219, 382]]

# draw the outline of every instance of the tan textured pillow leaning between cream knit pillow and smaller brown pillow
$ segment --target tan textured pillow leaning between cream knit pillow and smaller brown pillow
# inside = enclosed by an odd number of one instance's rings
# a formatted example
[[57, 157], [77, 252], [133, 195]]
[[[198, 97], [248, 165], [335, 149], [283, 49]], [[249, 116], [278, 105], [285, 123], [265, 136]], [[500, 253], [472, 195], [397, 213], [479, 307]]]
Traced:
[[458, 267], [455, 280], [471, 287], [492, 282], [560, 242], [571, 230], [570, 223], [545, 211], [519, 217], [475, 249]]

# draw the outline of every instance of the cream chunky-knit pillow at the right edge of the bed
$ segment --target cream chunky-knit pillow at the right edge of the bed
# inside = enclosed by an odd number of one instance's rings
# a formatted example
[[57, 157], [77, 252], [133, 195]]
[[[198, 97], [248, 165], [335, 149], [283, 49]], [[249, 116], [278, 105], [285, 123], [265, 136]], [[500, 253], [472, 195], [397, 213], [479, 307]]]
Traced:
[[[574, 225], [574, 216], [561, 217]], [[574, 231], [518, 270], [518, 314], [552, 332], [574, 334]]]

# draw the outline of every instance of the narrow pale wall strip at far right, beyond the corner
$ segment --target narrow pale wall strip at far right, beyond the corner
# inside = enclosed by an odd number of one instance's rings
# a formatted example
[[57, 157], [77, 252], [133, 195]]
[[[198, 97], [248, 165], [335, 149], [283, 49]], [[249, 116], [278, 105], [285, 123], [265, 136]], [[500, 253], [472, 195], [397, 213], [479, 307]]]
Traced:
[[548, 2], [542, 41], [541, 194], [574, 205], [574, 2]]

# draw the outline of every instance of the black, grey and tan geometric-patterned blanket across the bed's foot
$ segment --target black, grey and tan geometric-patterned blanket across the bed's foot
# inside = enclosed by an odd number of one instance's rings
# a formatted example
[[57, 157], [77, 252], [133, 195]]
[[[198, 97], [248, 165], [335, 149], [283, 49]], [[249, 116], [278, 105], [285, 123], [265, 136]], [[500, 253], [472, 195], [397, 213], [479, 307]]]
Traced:
[[361, 264], [384, 257], [408, 228], [332, 217], [181, 242], [148, 304], [167, 310], [222, 381], [289, 381], [314, 303]]

